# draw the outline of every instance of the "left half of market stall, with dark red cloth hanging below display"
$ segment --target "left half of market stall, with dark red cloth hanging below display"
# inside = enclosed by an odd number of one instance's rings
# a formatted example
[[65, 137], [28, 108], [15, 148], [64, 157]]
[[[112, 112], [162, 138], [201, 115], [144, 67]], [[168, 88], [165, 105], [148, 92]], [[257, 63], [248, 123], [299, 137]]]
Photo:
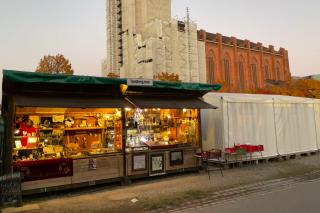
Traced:
[[122, 109], [134, 107], [123, 79], [3, 72], [6, 172], [20, 171], [22, 190], [120, 180], [124, 174]]

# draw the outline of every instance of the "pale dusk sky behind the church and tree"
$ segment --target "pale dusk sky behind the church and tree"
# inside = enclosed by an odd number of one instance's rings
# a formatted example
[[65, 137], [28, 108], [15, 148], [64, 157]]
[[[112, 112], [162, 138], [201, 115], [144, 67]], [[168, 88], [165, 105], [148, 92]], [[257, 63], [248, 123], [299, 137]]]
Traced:
[[[173, 0], [173, 17], [198, 28], [289, 51], [293, 75], [320, 73], [319, 0]], [[62, 53], [77, 75], [101, 75], [106, 57], [105, 0], [0, 0], [0, 69], [34, 71]]]

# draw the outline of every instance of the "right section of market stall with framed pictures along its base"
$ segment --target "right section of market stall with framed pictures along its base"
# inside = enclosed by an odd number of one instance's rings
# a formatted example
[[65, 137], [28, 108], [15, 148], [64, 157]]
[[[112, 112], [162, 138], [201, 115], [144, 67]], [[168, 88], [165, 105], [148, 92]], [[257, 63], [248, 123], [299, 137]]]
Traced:
[[216, 107], [200, 99], [220, 86], [154, 82], [129, 86], [124, 94], [136, 109], [126, 109], [127, 174], [162, 175], [198, 169], [200, 109]]

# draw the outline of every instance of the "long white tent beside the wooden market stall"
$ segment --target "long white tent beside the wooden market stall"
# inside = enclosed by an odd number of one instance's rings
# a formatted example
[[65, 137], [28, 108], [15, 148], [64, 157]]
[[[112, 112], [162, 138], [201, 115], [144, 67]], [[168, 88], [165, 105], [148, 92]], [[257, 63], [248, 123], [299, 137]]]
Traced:
[[203, 150], [264, 145], [263, 157], [318, 150], [319, 100], [224, 93], [204, 99], [219, 109], [201, 111]]

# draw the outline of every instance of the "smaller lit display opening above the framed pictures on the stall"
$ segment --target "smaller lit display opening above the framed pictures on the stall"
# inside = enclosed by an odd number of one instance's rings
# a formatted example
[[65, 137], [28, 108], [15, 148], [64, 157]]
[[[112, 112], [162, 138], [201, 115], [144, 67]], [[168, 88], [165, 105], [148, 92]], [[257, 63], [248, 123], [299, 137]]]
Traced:
[[126, 109], [127, 147], [199, 145], [196, 109]]

